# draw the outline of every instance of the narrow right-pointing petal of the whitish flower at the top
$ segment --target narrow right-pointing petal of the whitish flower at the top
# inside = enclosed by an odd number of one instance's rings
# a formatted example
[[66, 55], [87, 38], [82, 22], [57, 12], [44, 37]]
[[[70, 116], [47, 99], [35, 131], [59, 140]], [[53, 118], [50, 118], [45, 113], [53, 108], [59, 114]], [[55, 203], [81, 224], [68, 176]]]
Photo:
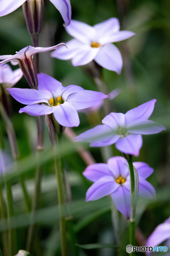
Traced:
[[129, 37], [132, 37], [134, 35], [135, 33], [133, 33], [132, 31], [122, 30], [122, 31], [114, 32], [111, 30], [110, 33], [108, 33], [106, 36], [101, 37], [101, 39], [99, 40], [99, 43], [101, 43], [102, 45], [105, 45], [105, 44], [110, 44], [114, 42], [119, 42]]

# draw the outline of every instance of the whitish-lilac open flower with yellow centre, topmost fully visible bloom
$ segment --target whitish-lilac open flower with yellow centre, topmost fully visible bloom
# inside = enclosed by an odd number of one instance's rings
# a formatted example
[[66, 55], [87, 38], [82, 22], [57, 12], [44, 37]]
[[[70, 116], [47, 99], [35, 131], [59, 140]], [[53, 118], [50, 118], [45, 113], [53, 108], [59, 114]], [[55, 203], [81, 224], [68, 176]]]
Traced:
[[67, 42], [68, 50], [56, 50], [51, 56], [61, 60], [72, 59], [73, 66], [85, 65], [95, 60], [101, 67], [120, 74], [123, 65], [122, 56], [112, 43], [127, 39], [135, 33], [119, 30], [120, 24], [117, 18], [110, 18], [93, 27], [71, 20], [66, 31], [75, 39]]

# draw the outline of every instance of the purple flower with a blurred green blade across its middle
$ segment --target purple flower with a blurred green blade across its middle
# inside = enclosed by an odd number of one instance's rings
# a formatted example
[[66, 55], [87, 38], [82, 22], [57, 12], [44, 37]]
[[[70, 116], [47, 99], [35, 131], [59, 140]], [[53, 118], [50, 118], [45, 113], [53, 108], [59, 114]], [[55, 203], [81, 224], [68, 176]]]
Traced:
[[97, 125], [79, 136], [74, 141], [91, 142], [90, 146], [107, 146], [115, 144], [125, 154], [139, 155], [142, 146], [141, 134], [154, 134], [166, 130], [161, 124], [148, 120], [153, 112], [155, 99], [137, 108], [122, 113], [110, 113]]

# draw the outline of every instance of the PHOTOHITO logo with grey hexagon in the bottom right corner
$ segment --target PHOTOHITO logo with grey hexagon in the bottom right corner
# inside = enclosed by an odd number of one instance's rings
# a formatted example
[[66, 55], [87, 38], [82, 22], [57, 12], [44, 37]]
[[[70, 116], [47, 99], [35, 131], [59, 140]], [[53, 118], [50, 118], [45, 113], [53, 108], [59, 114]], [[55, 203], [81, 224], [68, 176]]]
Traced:
[[126, 251], [128, 253], [137, 251], [137, 252], [166, 252], [167, 247], [166, 246], [132, 246], [131, 244], [128, 244], [126, 246]]

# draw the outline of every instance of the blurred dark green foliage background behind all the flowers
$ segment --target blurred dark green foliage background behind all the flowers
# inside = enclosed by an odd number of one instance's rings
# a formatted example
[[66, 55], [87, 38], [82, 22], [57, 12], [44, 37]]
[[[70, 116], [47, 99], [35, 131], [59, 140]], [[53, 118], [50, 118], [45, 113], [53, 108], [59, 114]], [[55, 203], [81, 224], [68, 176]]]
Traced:
[[[136, 36], [116, 43], [124, 61], [122, 74], [117, 75], [115, 72], [103, 69], [103, 77], [108, 91], [115, 88], [122, 90], [122, 93], [112, 100], [112, 108], [115, 112], [126, 113], [129, 109], [155, 98], [157, 101], [151, 119], [166, 127], [166, 131], [160, 134], [143, 135], [140, 155], [134, 157], [134, 161], [146, 162], [154, 168], [154, 173], [148, 178], [148, 181], [154, 186], [157, 196], [155, 200], [139, 199], [137, 224], [140, 235], [137, 244], [141, 245], [141, 236], [147, 238], [158, 224], [170, 216], [170, 2], [166, 0], [86, 0], [85, 2], [71, 0], [71, 6], [72, 19], [95, 25], [110, 17], [117, 17], [121, 23], [121, 30], [131, 30], [136, 33]], [[62, 24], [63, 20], [58, 10], [50, 1], [45, 1], [43, 29], [39, 45], [48, 47], [70, 40], [71, 36], [66, 33]], [[31, 39], [25, 25], [22, 7], [9, 15], [0, 17], [0, 55], [13, 55], [16, 51], [30, 44]], [[98, 90], [94, 81], [85, 72], [84, 67], [73, 67], [71, 61], [51, 58], [49, 52], [42, 53], [40, 60], [41, 72], [61, 81], [63, 86], [76, 84], [88, 90]], [[12, 69], [15, 68], [12, 66]], [[24, 77], [15, 87], [29, 88]], [[12, 172], [7, 175], [7, 179], [12, 183], [17, 246], [18, 249], [25, 249], [27, 230], [30, 224], [30, 214], [23, 200], [19, 177], [20, 175], [24, 177], [30, 197], [32, 197], [38, 161], [44, 169], [40, 202], [34, 217], [36, 232], [40, 238], [40, 255], [60, 255], [56, 178], [48, 129], [45, 130], [44, 152], [36, 160], [36, 120], [32, 116], [18, 113], [18, 110], [23, 107], [22, 104], [15, 100], [12, 100], [12, 104], [14, 108], [12, 123], [17, 135], [21, 161], [12, 166]], [[101, 124], [101, 110], [99, 114], [98, 118]], [[95, 125], [85, 113], [80, 113], [79, 117], [80, 126], [74, 128], [76, 134], [80, 134]], [[10, 151], [5, 124], [1, 119], [0, 123], [6, 149]], [[88, 146], [85, 144], [85, 147]], [[98, 163], [106, 162], [106, 159], [110, 157], [107, 154], [107, 149], [88, 148], [88, 150]], [[114, 145], [112, 151], [114, 155], [121, 155]], [[86, 165], [77, 153], [77, 144], [71, 142], [67, 137], [63, 138], [63, 155], [71, 185], [70, 211], [77, 237], [76, 242], [78, 244], [114, 244], [115, 230], [112, 225], [112, 217], [115, 217], [111, 211], [112, 204], [109, 197], [86, 203], [85, 194], [92, 183], [82, 176]], [[4, 185], [3, 180], [1, 184]], [[116, 221], [118, 220], [116, 219]], [[124, 255], [125, 246], [128, 244], [128, 222], [124, 219], [122, 221], [127, 226], [122, 236], [124, 247], [121, 254]], [[6, 222], [0, 221], [0, 231], [2, 232], [6, 228]], [[2, 247], [2, 236], [0, 246]], [[70, 255], [117, 255], [116, 251], [108, 248], [80, 249], [78, 251], [73, 249]], [[35, 248], [33, 248], [31, 254], [37, 255], [36, 253]]]

